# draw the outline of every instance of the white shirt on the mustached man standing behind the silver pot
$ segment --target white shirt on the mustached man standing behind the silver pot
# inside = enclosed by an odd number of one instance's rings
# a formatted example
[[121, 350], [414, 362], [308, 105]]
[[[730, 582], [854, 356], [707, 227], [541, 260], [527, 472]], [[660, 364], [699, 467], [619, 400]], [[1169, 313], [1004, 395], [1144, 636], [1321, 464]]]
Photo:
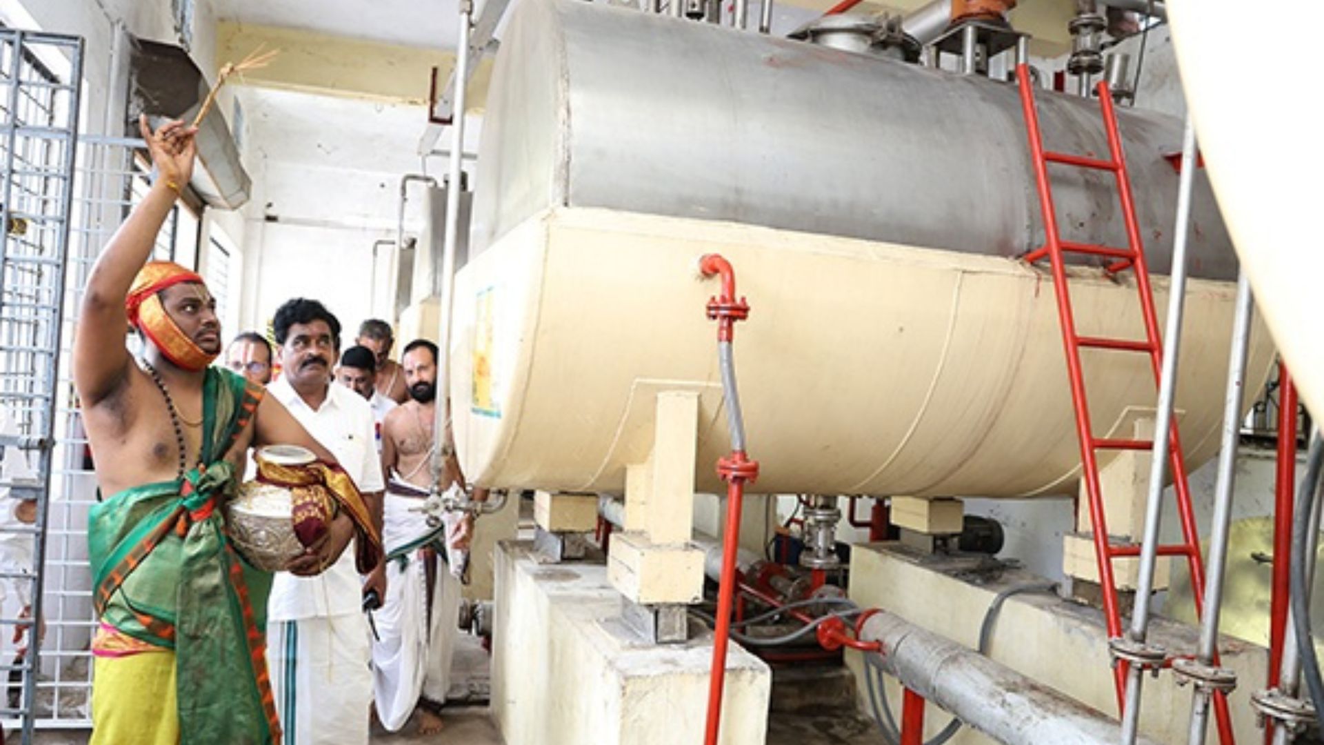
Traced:
[[[322, 408], [312, 411], [283, 376], [266, 390], [285, 404], [322, 447], [331, 451], [360, 492], [380, 492], [385, 488], [381, 460], [373, 447], [376, 426], [372, 407], [363, 396], [344, 386], [328, 383]], [[275, 573], [266, 615], [269, 620], [298, 620], [357, 614], [361, 607], [363, 582], [354, 566], [351, 542], [340, 558], [316, 577]]]

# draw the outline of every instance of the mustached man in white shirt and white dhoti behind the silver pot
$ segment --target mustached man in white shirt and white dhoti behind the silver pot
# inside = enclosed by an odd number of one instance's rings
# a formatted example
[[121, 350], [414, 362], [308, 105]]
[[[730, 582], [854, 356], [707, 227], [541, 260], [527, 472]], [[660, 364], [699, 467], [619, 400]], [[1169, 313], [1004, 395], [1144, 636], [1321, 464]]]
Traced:
[[[381, 525], [381, 463], [372, 408], [331, 384], [340, 322], [320, 302], [295, 298], [274, 318], [282, 374], [267, 388], [359, 485]], [[385, 595], [385, 567], [360, 582], [354, 551], [316, 577], [278, 573], [267, 601], [267, 664], [286, 745], [368, 742], [372, 671], [363, 598]]]

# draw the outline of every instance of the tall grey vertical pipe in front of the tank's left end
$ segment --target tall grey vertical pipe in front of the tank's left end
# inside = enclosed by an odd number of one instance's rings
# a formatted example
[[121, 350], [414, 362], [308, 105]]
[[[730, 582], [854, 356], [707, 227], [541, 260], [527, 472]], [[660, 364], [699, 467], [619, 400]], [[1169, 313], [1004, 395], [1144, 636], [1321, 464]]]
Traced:
[[[455, 101], [450, 125], [450, 151], [465, 151], [465, 105], [469, 98], [469, 37], [474, 28], [474, 1], [459, 0], [459, 40], [455, 42]], [[446, 231], [442, 233], [441, 249], [441, 322], [437, 331], [437, 418], [432, 437], [432, 492], [441, 494], [441, 476], [445, 473], [446, 457], [454, 447], [450, 441], [450, 326], [454, 322], [455, 305], [455, 245], [459, 241], [459, 179], [463, 159], [451, 155], [446, 174]]]

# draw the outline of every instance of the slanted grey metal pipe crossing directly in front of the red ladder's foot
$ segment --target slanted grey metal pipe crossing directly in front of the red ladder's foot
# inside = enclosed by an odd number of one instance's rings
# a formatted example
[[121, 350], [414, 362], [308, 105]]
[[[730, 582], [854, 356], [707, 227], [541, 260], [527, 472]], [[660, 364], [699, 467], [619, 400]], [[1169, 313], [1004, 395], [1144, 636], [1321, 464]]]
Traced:
[[[1145, 529], [1140, 544], [1136, 577], [1136, 604], [1131, 614], [1131, 639], [1144, 643], [1149, 631], [1149, 602], [1158, 561], [1158, 524], [1162, 520], [1164, 473], [1172, 443], [1172, 400], [1177, 390], [1177, 353], [1181, 349], [1181, 315], [1186, 301], [1186, 245], [1190, 233], [1190, 195], [1196, 182], [1196, 126], [1186, 115], [1181, 143], [1181, 186], [1177, 191], [1177, 224], [1173, 231], [1172, 281], [1168, 289], [1168, 322], [1164, 329], [1162, 370], [1158, 375], [1158, 414], [1155, 422], [1153, 459], [1149, 464], [1149, 497], [1145, 502]], [[1127, 675], [1125, 708], [1121, 712], [1121, 742], [1136, 741], [1140, 726], [1140, 689], [1144, 671], [1131, 665]]]

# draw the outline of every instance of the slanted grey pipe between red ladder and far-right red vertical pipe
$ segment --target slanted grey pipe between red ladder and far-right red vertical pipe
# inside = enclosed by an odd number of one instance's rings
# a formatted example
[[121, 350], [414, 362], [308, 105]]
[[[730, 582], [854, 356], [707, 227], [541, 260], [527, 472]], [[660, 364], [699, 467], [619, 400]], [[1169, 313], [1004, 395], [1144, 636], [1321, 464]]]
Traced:
[[[1185, 154], [1182, 154], [1185, 155]], [[1182, 163], [1185, 166], [1185, 163]], [[1246, 273], [1237, 278], [1237, 309], [1233, 342], [1227, 361], [1227, 395], [1223, 398], [1223, 432], [1218, 451], [1218, 487], [1214, 492], [1214, 517], [1209, 537], [1209, 566], [1205, 574], [1205, 610], [1200, 619], [1197, 659], [1214, 664], [1218, 652], [1218, 615], [1223, 604], [1223, 578], [1227, 573], [1227, 537], [1231, 532], [1233, 487], [1237, 484], [1237, 444], [1241, 440], [1242, 394], [1246, 386], [1246, 357], [1250, 349], [1250, 321], [1254, 304]], [[1209, 728], [1206, 688], [1192, 687], [1189, 745], [1204, 745]]]

